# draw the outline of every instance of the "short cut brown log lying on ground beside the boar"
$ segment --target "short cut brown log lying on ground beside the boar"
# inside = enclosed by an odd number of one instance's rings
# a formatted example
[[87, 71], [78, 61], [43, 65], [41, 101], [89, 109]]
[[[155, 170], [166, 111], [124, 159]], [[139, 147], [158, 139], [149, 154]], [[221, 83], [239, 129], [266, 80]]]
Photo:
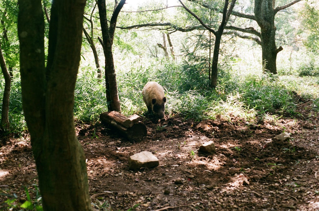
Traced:
[[139, 121], [140, 116], [124, 116], [117, 111], [104, 112], [100, 114], [101, 122], [109, 128], [114, 129], [119, 135], [129, 140], [140, 140], [147, 135], [144, 123]]

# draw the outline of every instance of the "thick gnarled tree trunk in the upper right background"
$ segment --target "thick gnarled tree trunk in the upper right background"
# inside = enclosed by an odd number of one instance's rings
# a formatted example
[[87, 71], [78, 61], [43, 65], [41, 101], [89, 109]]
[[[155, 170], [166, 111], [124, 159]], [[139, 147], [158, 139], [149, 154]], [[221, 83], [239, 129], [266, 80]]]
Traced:
[[275, 15], [273, 0], [255, 0], [255, 18], [261, 28], [261, 46], [263, 71], [277, 74], [276, 59], [277, 53], [282, 47], [277, 49], [275, 42]]

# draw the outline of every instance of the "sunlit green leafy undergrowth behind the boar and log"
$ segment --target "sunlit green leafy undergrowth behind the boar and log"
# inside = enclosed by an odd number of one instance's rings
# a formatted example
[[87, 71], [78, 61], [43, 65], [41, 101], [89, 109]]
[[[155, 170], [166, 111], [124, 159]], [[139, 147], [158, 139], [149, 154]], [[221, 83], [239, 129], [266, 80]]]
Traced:
[[[105, 80], [97, 78], [96, 70], [81, 68], [75, 87], [74, 118], [76, 123], [94, 124], [99, 121], [100, 113], [107, 110]], [[294, 67], [294, 70], [298, 68]], [[260, 119], [276, 121], [280, 116], [299, 115], [296, 113], [296, 93], [312, 99], [314, 109], [319, 111], [319, 78], [314, 76], [315, 73], [300, 77], [301, 73], [289, 74], [288, 71], [278, 76], [240, 74], [238, 67], [232, 70], [231, 66], [227, 66], [219, 69], [218, 86], [212, 89], [207, 71], [202, 66], [152, 61], [148, 66], [117, 70], [117, 83], [124, 115], [146, 113], [142, 89], [148, 81], [157, 81], [163, 86], [167, 97], [166, 117], [179, 114], [197, 121], [216, 118], [231, 120], [233, 117], [249, 122]], [[0, 89], [3, 90], [3, 78], [1, 80]], [[1, 98], [2, 95], [3, 91], [0, 92]], [[21, 102], [21, 84], [15, 77], [10, 97], [11, 132], [26, 130]]]

